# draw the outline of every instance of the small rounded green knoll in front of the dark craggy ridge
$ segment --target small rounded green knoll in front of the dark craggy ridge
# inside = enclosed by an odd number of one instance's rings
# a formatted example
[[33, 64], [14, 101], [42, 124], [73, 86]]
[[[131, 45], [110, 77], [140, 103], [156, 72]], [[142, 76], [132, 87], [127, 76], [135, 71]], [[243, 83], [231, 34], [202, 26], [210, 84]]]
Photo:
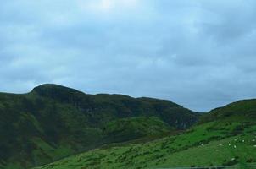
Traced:
[[174, 130], [158, 117], [128, 117], [107, 123], [103, 128], [103, 140], [120, 143], [148, 136], [161, 136]]

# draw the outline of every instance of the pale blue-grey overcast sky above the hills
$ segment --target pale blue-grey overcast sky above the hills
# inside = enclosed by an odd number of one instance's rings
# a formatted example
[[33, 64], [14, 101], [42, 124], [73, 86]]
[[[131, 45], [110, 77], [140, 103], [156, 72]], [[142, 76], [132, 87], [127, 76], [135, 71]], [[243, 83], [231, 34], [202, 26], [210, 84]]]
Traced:
[[255, 0], [8, 0], [0, 91], [65, 85], [198, 112], [256, 98]]

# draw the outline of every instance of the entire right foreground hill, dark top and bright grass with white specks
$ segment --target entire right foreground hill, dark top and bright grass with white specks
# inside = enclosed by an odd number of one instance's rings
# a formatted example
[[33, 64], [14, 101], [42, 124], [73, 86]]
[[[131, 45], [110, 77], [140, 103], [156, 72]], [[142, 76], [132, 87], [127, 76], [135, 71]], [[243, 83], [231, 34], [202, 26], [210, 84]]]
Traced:
[[238, 101], [203, 115], [182, 134], [91, 150], [36, 169], [255, 165], [255, 108], [256, 100]]

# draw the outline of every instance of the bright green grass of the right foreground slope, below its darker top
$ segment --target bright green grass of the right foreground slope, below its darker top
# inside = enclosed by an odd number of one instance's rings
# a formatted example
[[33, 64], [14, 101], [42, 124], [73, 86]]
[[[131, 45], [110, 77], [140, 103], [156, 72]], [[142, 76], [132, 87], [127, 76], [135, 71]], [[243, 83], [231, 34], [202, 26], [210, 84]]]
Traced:
[[[256, 161], [256, 125], [242, 134], [232, 135], [241, 123], [214, 129], [215, 123], [193, 128], [186, 134], [145, 144], [132, 144], [103, 150], [92, 150], [71, 156], [38, 169], [81, 168], [157, 168], [170, 166], [232, 166]], [[218, 125], [219, 126], [219, 125]], [[244, 142], [242, 142], [244, 140]], [[229, 145], [231, 144], [231, 146]], [[234, 148], [234, 145], [237, 148]]]

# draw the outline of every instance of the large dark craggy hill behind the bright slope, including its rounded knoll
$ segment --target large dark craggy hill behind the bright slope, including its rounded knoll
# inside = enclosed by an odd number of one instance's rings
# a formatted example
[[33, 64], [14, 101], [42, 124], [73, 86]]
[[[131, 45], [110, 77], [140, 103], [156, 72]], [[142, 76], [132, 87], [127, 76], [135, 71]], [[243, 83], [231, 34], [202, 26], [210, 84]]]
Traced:
[[86, 95], [60, 85], [0, 93], [0, 168], [29, 168], [103, 144], [186, 129], [198, 113], [171, 101]]

